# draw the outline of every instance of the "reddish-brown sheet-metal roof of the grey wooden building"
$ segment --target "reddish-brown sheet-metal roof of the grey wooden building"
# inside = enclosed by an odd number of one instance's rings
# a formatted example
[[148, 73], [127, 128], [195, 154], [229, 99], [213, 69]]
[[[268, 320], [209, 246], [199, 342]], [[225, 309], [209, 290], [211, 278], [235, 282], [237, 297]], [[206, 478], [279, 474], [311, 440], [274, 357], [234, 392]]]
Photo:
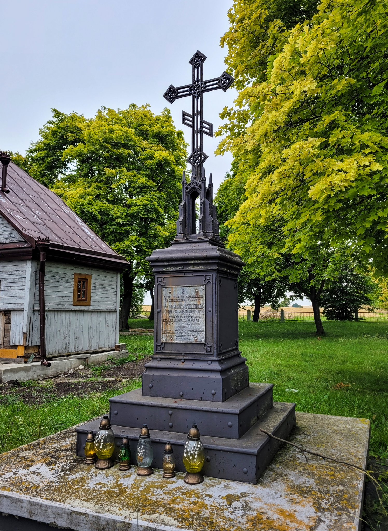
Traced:
[[[0, 162], [0, 167], [2, 167]], [[113, 259], [129, 265], [52, 190], [10, 162], [9, 194], [0, 192], [0, 214], [35, 249], [36, 241], [48, 237], [51, 247]]]

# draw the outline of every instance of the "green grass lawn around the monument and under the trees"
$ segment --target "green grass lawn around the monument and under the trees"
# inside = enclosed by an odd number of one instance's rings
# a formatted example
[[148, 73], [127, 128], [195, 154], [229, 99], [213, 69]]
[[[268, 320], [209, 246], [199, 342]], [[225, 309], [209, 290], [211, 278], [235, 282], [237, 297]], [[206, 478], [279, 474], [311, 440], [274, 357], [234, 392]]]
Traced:
[[[296, 402], [299, 411], [369, 418], [370, 451], [388, 457], [386, 323], [326, 322], [327, 335], [321, 339], [310, 322], [240, 321], [239, 326], [250, 381], [274, 383], [274, 399]], [[136, 357], [153, 352], [150, 336], [121, 336], [120, 341]], [[109, 397], [139, 387], [140, 380], [123, 382], [120, 391], [65, 399], [50, 398], [50, 380], [25, 385], [39, 386], [43, 402], [28, 405], [15, 396], [14, 402], [0, 405], [1, 451], [101, 415]]]

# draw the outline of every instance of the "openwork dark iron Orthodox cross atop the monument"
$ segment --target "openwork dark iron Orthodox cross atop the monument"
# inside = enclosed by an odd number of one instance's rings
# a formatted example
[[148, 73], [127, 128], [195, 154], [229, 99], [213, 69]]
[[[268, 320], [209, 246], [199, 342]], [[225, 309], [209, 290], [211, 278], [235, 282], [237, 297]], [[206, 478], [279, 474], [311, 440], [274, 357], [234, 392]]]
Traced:
[[202, 117], [203, 93], [211, 90], [229, 89], [234, 78], [227, 72], [223, 72], [219, 78], [204, 81], [204, 62], [206, 55], [197, 52], [191, 57], [189, 63], [192, 66], [192, 81], [189, 85], [174, 87], [170, 85], [163, 97], [173, 103], [178, 98], [191, 96], [191, 114], [182, 110], [182, 124], [191, 127], [191, 155], [187, 159], [192, 167], [192, 177], [200, 177], [202, 166], [208, 158], [203, 149], [203, 134], [213, 136], [213, 124], [206, 122]]

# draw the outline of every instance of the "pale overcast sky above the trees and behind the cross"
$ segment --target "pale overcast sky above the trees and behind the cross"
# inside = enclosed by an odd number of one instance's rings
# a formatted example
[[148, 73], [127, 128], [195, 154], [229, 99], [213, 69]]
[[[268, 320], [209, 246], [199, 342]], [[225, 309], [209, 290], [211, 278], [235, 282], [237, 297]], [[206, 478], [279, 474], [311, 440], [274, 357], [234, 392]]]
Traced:
[[[50, 108], [94, 116], [101, 106], [150, 104], [170, 107], [175, 125], [190, 99], [170, 105], [163, 94], [191, 81], [188, 61], [204, 53], [205, 79], [225, 70], [220, 38], [228, 28], [232, 0], [2, 0], [0, 149], [24, 151], [37, 140]], [[237, 93], [217, 90], [204, 97], [204, 119], [218, 114]], [[206, 175], [215, 188], [231, 156], [215, 157], [218, 139], [205, 136]]]

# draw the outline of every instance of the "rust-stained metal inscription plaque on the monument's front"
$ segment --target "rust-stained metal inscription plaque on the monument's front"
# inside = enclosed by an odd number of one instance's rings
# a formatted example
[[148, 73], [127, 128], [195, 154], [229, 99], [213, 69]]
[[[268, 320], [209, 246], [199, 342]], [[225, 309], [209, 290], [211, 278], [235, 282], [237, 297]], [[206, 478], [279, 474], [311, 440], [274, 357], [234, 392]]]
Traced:
[[162, 287], [162, 342], [206, 342], [205, 286]]

